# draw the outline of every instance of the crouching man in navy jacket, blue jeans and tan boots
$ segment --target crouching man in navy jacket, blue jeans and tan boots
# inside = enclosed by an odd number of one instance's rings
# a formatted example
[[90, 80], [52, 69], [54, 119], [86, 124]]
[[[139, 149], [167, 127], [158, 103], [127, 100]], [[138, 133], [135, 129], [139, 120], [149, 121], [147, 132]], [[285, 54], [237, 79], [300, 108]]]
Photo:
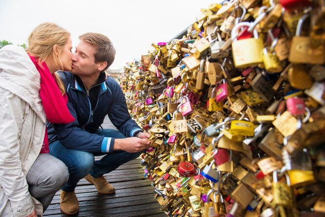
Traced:
[[[111, 41], [98, 33], [86, 33], [72, 57], [70, 72], [62, 72], [68, 109], [76, 121], [48, 125], [50, 154], [61, 159], [69, 169], [68, 183], [61, 189], [61, 211], [74, 215], [79, 211], [74, 189], [85, 177], [101, 194], [112, 194], [103, 174], [138, 157], [148, 149], [149, 133], [143, 132], [131, 119], [119, 84], [104, 70], [114, 61]], [[105, 115], [118, 130], [100, 128]], [[94, 155], [106, 154], [94, 161]]]

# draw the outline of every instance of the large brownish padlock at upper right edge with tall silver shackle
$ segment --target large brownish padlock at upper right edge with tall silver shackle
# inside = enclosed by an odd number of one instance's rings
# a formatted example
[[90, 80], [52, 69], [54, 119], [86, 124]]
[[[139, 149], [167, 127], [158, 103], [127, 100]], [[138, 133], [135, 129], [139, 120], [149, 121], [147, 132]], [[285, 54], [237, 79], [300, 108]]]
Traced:
[[291, 63], [302, 63], [302, 64], [324, 64], [325, 62], [325, 48], [324, 44], [319, 44], [318, 47], [311, 47], [310, 37], [301, 36], [301, 30], [304, 21], [310, 17], [310, 15], [304, 14], [299, 19], [296, 35], [292, 37], [290, 53], [288, 60]]

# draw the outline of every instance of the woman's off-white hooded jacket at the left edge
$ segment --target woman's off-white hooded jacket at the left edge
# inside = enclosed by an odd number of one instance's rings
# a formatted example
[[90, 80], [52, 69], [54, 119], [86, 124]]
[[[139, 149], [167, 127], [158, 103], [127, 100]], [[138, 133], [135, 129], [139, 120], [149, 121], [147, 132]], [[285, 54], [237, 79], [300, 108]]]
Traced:
[[26, 217], [42, 205], [28, 192], [26, 175], [41, 151], [46, 115], [41, 77], [26, 51], [0, 49], [0, 216]]

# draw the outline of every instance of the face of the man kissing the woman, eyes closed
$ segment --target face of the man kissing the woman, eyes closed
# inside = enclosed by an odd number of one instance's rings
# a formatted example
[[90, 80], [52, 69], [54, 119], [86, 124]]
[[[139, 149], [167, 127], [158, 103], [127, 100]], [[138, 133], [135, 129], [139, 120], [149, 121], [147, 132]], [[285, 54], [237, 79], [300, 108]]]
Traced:
[[72, 56], [71, 73], [81, 77], [98, 74], [100, 71], [98, 70], [98, 64], [95, 64], [95, 52], [96, 48], [93, 45], [80, 41]]

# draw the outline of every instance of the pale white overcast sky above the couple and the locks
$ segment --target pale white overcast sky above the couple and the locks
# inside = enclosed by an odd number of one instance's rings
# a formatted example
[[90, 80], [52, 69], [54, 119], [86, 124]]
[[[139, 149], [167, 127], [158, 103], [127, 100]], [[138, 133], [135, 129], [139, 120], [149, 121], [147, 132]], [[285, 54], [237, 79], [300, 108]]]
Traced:
[[151, 43], [167, 42], [195, 22], [213, 0], [0, 0], [0, 40], [27, 44], [42, 22], [71, 33], [72, 45], [85, 32], [106, 35], [116, 49], [111, 69], [140, 59]]

